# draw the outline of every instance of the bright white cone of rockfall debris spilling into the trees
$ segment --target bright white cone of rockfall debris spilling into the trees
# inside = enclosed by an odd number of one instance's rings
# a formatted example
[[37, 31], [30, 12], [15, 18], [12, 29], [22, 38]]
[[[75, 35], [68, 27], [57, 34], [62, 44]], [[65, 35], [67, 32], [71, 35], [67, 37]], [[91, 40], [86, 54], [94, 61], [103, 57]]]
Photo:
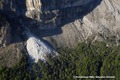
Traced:
[[38, 60], [42, 60], [46, 62], [48, 56], [56, 57], [58, 53], [51, 47], [49, 47], [43, 40], [37, 38], [30, 32], [26, 32], [28, 40], [27, 40], [27, 52], [29, 54], [29, 58], [37, 63]]

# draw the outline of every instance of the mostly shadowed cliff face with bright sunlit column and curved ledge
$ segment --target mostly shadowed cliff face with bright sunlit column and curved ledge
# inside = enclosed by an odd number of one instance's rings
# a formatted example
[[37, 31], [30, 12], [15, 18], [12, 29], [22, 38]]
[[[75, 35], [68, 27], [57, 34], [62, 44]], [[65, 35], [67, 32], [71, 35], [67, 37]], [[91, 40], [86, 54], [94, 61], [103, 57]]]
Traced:
[[96, 0], [26, 0], [26, 16], [37, 20], [40, 29], [51, 29], [93, 9], [93, 3]]

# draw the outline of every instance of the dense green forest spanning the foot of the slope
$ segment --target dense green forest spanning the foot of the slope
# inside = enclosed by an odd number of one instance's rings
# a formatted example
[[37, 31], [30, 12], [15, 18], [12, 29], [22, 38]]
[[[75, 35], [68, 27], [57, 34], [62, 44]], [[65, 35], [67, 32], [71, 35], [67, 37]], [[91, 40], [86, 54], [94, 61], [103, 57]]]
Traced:
[[[80, 43], [74, 49], [59, 49], [60, 56], [47, 63], [33, 64], [34, 76], [28, 70], [27, 60], [13, 68], [1, 68], [0, 80], [73, 80], [73, 76], [115, 76], [120, 79], [120, 46], [106, 47], [105, 43]], [[39, 78], [40, 77], [40, 78]], [[93, 80], [93, 79], [92, 79]], [[114, 80], [114, 79], [111, 79]]]

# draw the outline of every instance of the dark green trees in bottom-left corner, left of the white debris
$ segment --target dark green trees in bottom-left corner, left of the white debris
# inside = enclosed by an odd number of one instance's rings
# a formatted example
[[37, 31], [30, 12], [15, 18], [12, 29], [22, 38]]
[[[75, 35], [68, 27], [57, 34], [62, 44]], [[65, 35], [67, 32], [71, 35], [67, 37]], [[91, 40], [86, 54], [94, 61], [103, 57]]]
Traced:
[[27, 58], [23, 58], [14, 67], [0, 67], [0, 80], [30, 80], [31, 73], [28, 70]]

